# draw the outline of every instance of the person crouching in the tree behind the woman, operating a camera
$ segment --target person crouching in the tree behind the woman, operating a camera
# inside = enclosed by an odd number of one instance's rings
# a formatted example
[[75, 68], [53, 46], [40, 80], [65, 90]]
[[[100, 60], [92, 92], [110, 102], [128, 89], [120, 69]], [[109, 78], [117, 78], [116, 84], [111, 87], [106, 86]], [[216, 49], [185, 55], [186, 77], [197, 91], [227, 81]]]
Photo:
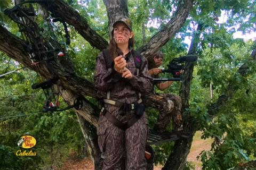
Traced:
[[[163, 64], [163, 54], [158, 51], [153, 57], [148, 58], [148, 70], [149, 74], [153, 78], [159, 78], [159, 74], [162, 70], [158, 67]], [[173, 81], [166, 82], [154, 82], [154, 85], [159, 90], [165, 90], [170, 87]], [[148, 94], [142, 96], [143, 104], [157, 108], [159, 115], [157, 123], [153, 128], [153, 132], [161, 134], [165, 138], [169, 138], [172, 132], [166, 130], [167, 125], [170, 123], [171, 118], [173, 119], [173, 130], [177, 133], [182, 131], [182, 116], [181, 116], [181, 98], [174, 94], [156, 94], [154, 88]]]

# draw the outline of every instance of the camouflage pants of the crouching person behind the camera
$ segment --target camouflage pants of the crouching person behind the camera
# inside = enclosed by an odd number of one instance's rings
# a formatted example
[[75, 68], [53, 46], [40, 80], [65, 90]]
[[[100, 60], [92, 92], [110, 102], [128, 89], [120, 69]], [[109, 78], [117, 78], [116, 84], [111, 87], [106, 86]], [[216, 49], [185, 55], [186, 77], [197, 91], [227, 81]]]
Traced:
[[182, 125], [181, 116], [181, 98], [173, 94], [148, 94], [142, 98], [145, 106], [157, 108], [159, 115], [157, 118], [156, 128], [164, 131], [167, 125], [173, 119], [173, 128], [177, 130]]

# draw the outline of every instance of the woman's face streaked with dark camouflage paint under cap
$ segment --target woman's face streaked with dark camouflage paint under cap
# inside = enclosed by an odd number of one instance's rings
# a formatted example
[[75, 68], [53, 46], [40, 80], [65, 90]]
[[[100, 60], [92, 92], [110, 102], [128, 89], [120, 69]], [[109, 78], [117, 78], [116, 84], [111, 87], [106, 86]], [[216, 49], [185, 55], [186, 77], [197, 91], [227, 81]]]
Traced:
[[113, 34], [117, 45], [128, 45], [129, 39], [133, 37], [133, 32], [122, 22], [115, 25]]

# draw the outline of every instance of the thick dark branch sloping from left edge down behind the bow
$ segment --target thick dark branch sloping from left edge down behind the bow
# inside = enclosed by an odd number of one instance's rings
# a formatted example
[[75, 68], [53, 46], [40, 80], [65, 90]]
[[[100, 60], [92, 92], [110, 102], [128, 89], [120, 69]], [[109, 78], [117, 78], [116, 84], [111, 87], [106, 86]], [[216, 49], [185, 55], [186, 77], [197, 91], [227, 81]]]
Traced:
[[[28, 66], [31, 63], [28, 53], [26, 52], [26, 44], [23, 40], [13, 35], [2, 25], [0, 25], [0, 50], [15, 61]], [[61, 65], [58, 61], [53, 61], [51, 63], [42, 62], [38, 66], [30, 66], [29, 69], [38, 72], [43, 75], [46, 79], [52, 78], [52, 72], [49, 72], [46, 64], [51, 64], [54, 70], [54, 75], [59, 77], [58, 86], [62, 87], [61, 95], [67, 101], [69, 105], [73, 105], [75, 95], [91, 96], [97, 97], [97, 91], [94, 89], [92, 82], [78, 77], [75, 74], [70, 74], [70, 70], [65, 69], [65, 65]], [[64, 92], [66, 91], [66, 92]], [[66, 97], [65, 97], [66, 96]], [[78, 111], [88, 122], [97, 127], [99, 109], [90, 103], [85, 103], [85, 107]]]

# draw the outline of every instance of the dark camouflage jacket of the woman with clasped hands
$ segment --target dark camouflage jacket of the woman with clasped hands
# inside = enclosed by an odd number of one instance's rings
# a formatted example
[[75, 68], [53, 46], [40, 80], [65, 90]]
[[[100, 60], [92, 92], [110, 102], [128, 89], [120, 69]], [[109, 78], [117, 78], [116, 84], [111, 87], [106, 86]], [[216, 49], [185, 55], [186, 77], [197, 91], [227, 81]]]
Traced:
[[126, 67], [133, 74], [131, 79], [122, 78], [122, 74], [117, 73], [114, 67], [107, 69], [102, 52], [97, 57], [94, 83], [101, 98], [107, 98], [107, 91], [110, 91], [110, 99], [134, 103], [138, 100], [138, 92], [145, 93], [152, 89], [153, 79], [148, 74], [146, 58], [141, 56], [139, 75], [137, 75], [137, 68], [131, 50], [125, 58]]

